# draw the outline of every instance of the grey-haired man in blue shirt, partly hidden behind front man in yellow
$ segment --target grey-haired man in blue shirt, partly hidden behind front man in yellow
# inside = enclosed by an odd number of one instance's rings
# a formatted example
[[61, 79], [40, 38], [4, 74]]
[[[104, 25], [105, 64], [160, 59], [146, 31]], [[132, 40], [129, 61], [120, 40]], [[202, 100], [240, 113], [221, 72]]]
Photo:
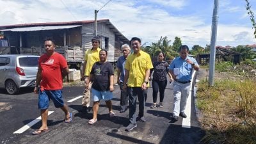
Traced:
[[[130, 46], [127, 44], [122, 45], [121, 47], [123, 56], [120, 56], [117, 60], [116, 63], [116, 68], [117, 68], [117, 83], [120, 86], [120, 91], [121, 91], [121, 97], [120, 97], [120, 106], [121, 110], [120, 113], [124, 113], [127, 110], [128, 106], [128, 95], [127, 91], [123, 90], [124, 86], [124, 75], [125, 75], [125, 61], [127, 59], [127, 56], [130, 54]], [[125, 83], [126, 84], [126, 83]]]

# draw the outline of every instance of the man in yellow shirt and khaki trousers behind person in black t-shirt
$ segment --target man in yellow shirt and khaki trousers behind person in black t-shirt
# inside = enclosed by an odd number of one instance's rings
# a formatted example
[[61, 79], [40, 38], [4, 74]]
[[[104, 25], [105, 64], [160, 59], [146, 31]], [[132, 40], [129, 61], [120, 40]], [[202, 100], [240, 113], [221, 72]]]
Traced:
[[100, 61], [99, 52], [100, 52], [100, 37], [94, 36], [92, 38], [92, 49], [88, 49], [84, 54], [84, 65], [83, 65], [83, 76], [84, 76], [84, 93], [82, 99], [83, 111], [88, 113], [90, 111], [90, 93], [92, 83], [88, 83], [88, 76], [90, 76], [90, 72], [92, 70], [92, 66], [95, 62]]

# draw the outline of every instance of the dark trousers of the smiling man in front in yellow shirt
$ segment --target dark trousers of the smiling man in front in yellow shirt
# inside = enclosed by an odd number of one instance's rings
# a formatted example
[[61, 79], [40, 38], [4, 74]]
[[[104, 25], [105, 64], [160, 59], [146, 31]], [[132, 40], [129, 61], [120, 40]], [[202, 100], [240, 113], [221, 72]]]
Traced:
[[136, 124], [136, 102], [137, 96], [139, 100], [139, 117], [144, 116], [145, 93], [147, 90], [141, 90], [141, 87], [127, 87], [129, 95], [129, 121], [131, 124]]

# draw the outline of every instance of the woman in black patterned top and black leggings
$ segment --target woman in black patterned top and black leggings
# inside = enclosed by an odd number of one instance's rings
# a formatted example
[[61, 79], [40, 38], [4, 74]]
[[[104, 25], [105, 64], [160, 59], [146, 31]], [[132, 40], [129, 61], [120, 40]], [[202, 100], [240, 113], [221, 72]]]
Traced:
[[156, 108], [156, 101], [157, 101], [157, 93], [159, 90], [160, 93], [160, 102], [159, 102], [159, 107], [163, 107], [163, 100], [164, 100], [164, 90], [167, 85], [167, 77], [166, 74], [171, 79], [171, 74], [168, 72], [169, 65], [166, 61], [164, 61], [164, 52], [159, 52], [157, 61], [154, 62], [153, 64], [154, 68], [150, 70], [150, 76], [153, 73], [153, 79], [152, 79], [152, 88], [153, 88], [153, 104], [150, 108]]

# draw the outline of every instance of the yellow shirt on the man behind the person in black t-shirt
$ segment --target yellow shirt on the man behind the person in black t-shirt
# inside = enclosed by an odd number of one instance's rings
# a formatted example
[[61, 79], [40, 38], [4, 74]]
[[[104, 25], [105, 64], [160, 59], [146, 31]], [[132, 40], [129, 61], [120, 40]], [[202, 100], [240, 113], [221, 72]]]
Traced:
[[90, 76], [92, 66], [95, 62], [100, 61], [100, 48], [98, 47], [95, 51], [88, 49], [84, 54], [84, 61], [87, 61], [84, 76]]

